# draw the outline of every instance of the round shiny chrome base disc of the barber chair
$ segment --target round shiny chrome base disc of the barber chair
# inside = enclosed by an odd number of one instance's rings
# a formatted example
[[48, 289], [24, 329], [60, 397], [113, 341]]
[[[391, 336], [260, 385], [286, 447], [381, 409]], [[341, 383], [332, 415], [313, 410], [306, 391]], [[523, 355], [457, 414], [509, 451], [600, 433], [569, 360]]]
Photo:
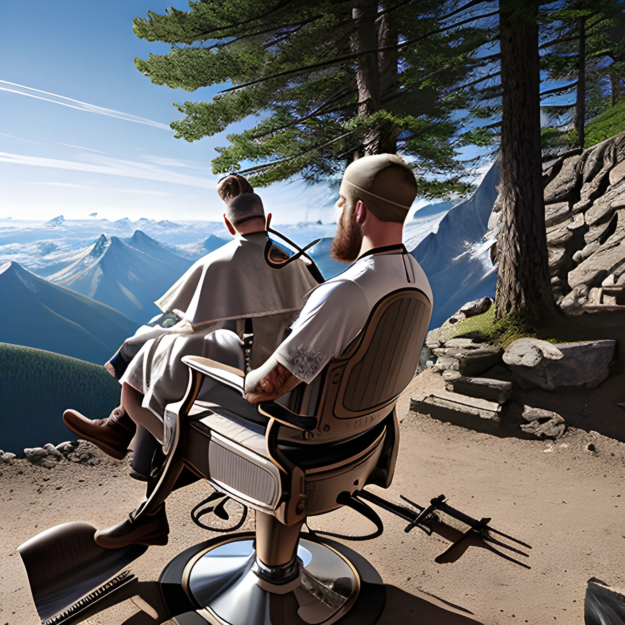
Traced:
[[[272, 580], [263, 569], [254, 534], [244, 532], [187, 549], [168, 564], [160, 581], [168, 585], [179, 579], [198, 625], [331, 625], [339, 619], [373, 625], [384, 608], [386, 592], [376, 570], [335, 541], [301, 534], [287, 581]], [[190, 616], [187, 607], [172, 621], [183, 625]]]

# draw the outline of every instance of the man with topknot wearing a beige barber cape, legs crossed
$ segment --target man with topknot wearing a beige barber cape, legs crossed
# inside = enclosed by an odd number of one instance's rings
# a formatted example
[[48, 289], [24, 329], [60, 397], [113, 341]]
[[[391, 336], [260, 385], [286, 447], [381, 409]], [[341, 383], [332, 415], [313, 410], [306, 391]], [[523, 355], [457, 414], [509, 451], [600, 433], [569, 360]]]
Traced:
[[[135, 424], [141, 426], [133, 459], [134, 477], [139, 479], [147, 479], [156, 447], [155, 441], [150, 446], [144, 429], [162, 442], [164, 408], [186, 391], [188, 372], [181, 358], [221, 359], [223, 341], [208, 336], [216, 329], [231, 330], [226, 344], [242, 358], [241, 337], [253, 331], [257, 339], [247, 356], [249, 366], [260, 366], [284, 337], [304, 304], [304, 295], [317, 286], [302, 259], [286, 271], [264, 262], [267, 231], [262, 201], [242, 176], [229, 176], [218, 191], [226, 201], [224, 221], [235, 238], [199, 259], [156, 302], [163, 317], [178, 322], [169, 327], [142, 326], [108, 363], [109, 372], [122, 384], [122, 405], [108, 419], [91, 421], [73, 410], [63, 415], [69, 429], [118, 459], [128, 451]], [[129, 358], [129, 363], [124, 362]], [[142, 467], [136, 465], [139, 456]]]

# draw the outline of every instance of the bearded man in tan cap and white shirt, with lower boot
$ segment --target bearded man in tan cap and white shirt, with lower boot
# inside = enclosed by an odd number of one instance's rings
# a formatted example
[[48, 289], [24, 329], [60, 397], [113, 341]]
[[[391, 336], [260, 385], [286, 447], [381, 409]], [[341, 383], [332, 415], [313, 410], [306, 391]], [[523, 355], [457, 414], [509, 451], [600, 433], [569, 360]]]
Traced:
[[[390, 292], [416, 287], [432, 301], [423, 270], [402, 244], [403, 222], [417, 194], [412, 169], [396, 154], [366, 156], [347, 167], [340, 194], [337, 206], [342, 214], [331, 254], [356, 262], [311, 292], [291, 334], [262, 366], [247, 374], [246, 399], [252, 404], [276, 399], [302, 381], [310, 384], [332, 357], [344, 351], [375, 304]], [[218, 330], [212, 339], [221, 337], [225, 345], [229, 334]], [[243, 411], [238, 414], [250, 418]], [[126, 521], [96, 532], [95, 540], [108, 548], [134, 542], [165, 544], [168, 532], [161, 504], [151, 514], [135, 518], [131, 512]]]

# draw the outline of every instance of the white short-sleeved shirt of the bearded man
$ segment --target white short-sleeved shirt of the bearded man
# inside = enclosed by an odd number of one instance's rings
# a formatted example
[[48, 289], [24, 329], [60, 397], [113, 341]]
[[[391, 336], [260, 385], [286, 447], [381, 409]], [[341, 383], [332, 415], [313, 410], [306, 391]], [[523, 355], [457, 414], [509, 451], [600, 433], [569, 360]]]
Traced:
[[432, 302], [426, 274], [404, 247], [364, 254], [342, 274], [313, 289], [274, 357], [309, 384], [361, 331], [375, 304], [406, 287], [420, 289]]

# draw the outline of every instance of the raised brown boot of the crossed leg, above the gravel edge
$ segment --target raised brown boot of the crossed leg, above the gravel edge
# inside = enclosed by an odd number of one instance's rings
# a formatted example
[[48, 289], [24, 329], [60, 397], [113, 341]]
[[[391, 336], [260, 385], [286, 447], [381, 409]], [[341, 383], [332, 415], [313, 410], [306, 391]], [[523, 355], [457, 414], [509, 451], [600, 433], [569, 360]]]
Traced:
[[128, 446], [137, 429], [123, 406], [116, 407], [108, 419], [88, 419], [80, 412], [66, 410], [63, 412], [63, 422], [71, 431], [118, 460], [128, 453]]

